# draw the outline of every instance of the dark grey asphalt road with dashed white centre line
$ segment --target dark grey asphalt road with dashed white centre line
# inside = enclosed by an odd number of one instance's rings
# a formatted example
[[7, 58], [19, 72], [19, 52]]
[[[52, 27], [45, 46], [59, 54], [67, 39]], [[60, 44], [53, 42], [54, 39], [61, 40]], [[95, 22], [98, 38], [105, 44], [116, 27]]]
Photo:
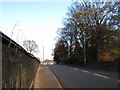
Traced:
[[48, 66], [63, 88], [118, 88], [118, 73], [68, 65]]

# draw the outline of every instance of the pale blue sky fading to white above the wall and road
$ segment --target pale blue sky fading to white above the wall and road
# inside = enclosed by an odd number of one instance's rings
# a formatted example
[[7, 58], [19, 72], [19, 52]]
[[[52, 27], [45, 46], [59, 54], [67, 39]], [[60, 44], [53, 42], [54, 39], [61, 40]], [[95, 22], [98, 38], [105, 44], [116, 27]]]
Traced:
[[[34, 40], [39, 46], [35, 56], [53, 59], [55, 37], [71, 2], [0, 2], [0, 31], [22, 45], [24, 40]], [[13, 34], [12, 34], [13, 31]]]

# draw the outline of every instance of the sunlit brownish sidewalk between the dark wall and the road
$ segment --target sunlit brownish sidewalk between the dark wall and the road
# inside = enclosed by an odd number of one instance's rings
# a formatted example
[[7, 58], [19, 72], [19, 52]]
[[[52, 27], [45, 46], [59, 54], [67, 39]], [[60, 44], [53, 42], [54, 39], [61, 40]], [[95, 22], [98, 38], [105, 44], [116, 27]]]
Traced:
[[54, 74], [51, 72], [51, 70], [44, 65], [40, 65], [35, 79], [32, 83], [32, 88], [61, 88], [61, 85], [59, 84], [58, 80], [54, 76]]

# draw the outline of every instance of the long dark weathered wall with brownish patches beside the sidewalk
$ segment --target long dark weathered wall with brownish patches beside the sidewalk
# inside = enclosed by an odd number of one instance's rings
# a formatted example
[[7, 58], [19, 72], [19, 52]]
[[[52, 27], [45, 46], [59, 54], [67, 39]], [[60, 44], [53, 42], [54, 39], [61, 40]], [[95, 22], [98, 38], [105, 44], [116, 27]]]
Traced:
[[40, 61], [2, 33], [2, 88], [29, 88]]

